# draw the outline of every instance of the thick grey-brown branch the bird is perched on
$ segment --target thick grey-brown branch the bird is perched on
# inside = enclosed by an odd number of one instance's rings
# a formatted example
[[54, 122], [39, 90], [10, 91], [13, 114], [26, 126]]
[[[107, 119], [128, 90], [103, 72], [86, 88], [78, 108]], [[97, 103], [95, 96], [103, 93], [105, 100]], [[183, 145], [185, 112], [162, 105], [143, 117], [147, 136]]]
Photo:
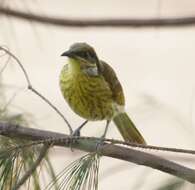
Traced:
[[[22, 138], [32, 141], [44, 139], [60, 139], [59, 141], [53, 141], [54, 143], [52, 144], [62, 147], [69, 147], [71, 142], [71, 137], [66, 134], [26, 128], [9, 123], [0, 123], [0, 134], [7, 137]], [[76, 141], [72, 141], [71, 143], [73, 148], [80, 149], [86, 152], [94, 152], [97, 148], [97, 142], [97, 138], [86, 137], [77, 139]], [[105, 143], [98, 150], [103, 156], [108, 156], [124, 161], [133, 162], [135, 164], [148, 166], [153, 169], [157, 169], [180, 177], [191, 183], [195, 183], [194, 169], [184, 167], [180, 164], [163, 159], [159, 156], [155, 156], [129, 147], [127, 148], [124, 146], [113, 145], [112, 143]]]

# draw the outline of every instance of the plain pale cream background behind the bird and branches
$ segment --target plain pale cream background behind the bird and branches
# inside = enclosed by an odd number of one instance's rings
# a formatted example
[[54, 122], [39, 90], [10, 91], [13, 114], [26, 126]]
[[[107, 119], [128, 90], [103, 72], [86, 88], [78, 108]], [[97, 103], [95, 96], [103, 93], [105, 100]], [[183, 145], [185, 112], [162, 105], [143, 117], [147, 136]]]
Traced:
[[[195, 15], [194, 0], [12, 0], [12, 3], [4, 3], [59, 17]], [[195, 27], [57, 28], [0, 17], [0, 45], [6, 45], [18, 56], [33, 86], [50, 99], [75, 128], [83, 119], [70, 110], [60, 94], [58, 76], [66, 62], [60, 54], [74, 42], [87, 42], [95, 47], [101, 59], [115, 69], [125, 92], [126, 110], [148, 144], [188, 149], [195, 148], [194, 32]], [[61, 118], [48, 105], [25, 90], [24, 77], [13, 61], [4, 71], [3, 79], [8, 99], [17, 92], [12, 103], [13, 112], [25, 111], [33, 115], [34, 127], [68, 132]], [[91, 122], [82, 134], [100, 136], [103, 128], [103, 122]], [[121, 138], [113, 124], [108, 137]], [[80, 156], [79, 152], [72, 153], [69, 149], [52, 151], [57, 171]], [[183, 160], [183, 157], [177, 156], [177, 161], [195, 168], [194, 157]], [[99, 189], [155, 190], [167, 179], [173, 178], [146, 167], [103, 158]], [[193, 187], [186, 183], [185, 189]]]

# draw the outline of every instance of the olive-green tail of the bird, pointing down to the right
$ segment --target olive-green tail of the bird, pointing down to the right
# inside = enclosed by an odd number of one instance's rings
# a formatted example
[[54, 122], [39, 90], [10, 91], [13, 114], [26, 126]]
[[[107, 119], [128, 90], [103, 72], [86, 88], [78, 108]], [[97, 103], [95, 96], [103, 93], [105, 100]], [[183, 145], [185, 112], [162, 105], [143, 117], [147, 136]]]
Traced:
[[125, 112], [117, 114], [113, 118], [113, 121], [125, 141], [146, 144], [146, 141], [142, 137], [141, 133], [137, 130]]

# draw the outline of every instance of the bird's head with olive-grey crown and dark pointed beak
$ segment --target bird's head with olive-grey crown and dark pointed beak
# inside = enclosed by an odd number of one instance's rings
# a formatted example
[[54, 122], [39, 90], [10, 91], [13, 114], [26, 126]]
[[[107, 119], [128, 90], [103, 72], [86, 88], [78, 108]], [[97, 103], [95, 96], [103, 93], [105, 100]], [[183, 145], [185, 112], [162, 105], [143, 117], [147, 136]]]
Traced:
[[61, 56], [75, 60], [82, 67], [98, 67], [99, 64], [95, 50], [87, 43], [74, 43]]

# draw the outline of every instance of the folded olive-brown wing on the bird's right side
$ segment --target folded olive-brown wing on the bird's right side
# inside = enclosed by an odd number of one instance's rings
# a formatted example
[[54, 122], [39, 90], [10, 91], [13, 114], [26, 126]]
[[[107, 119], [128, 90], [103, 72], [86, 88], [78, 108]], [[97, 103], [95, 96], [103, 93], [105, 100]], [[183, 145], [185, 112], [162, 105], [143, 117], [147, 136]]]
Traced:
[[125, 105], [123, 89], [116, 76], [116, 73], [114, 72], [112, 67], [108, 65], [106, 62], [100, 61], [100, 63], [101, 74], [103, 75], [105, 81], [108, 83], [110, 89], [112, 90], [113, 100], [121, 106]]

